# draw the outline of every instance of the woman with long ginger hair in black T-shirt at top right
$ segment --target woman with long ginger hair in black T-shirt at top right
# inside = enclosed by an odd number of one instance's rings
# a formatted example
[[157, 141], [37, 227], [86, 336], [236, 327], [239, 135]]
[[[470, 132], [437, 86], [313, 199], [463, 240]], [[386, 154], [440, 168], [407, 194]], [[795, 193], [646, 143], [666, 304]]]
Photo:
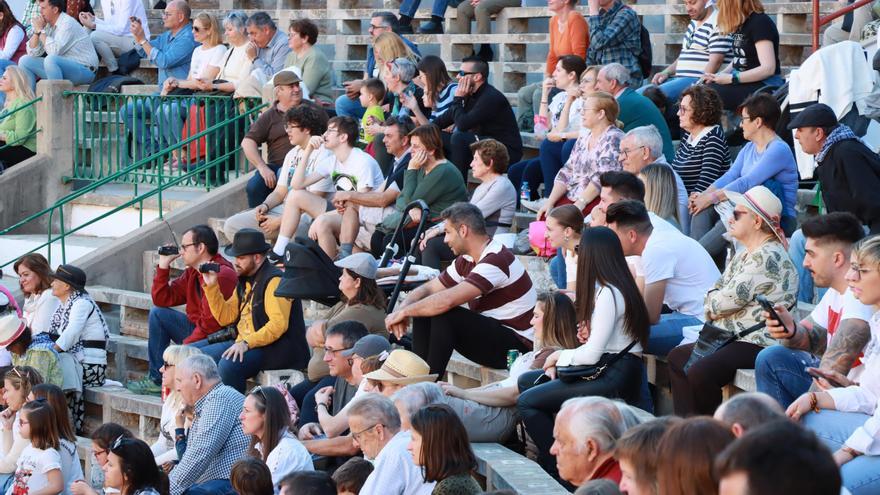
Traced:
[[761, 0], [718, 0], [718, 31], [732, 35], [733, 61], [717, 74], [704, 74], [725, 110], [735, 110], [749, 95], [765, 86], [785, 82], [779, 67], [779, 30], [764, 13]]

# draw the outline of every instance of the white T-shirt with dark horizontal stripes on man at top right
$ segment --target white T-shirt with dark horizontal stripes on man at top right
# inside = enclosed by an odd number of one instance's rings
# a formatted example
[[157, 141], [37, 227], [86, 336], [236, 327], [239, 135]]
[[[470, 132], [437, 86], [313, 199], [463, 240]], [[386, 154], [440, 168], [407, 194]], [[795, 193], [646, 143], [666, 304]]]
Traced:
[[702, 24], [697, 25], [694, 20], [688, 24], [687, 33], [681, 42], [681, 54], [675, 64], [677, 77], [702, 76], [706, 71], [706, 64], [709, 63], [709, 56], [716, 53], [724, 54], [725, 65], [730, 63], [733, 57], [731, 38], [718, 32], [717, 21], [718, 11], [713, 9]]

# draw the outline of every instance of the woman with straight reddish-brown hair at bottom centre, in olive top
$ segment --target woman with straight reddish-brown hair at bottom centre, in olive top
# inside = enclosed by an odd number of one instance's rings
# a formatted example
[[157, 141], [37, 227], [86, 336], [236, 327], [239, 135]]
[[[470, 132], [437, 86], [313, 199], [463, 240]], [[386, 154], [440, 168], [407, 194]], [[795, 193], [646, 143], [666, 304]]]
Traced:
[[434, 495], [483, 493], [471, 478], [477, 458], [471, 450], [461, 419], [445, 404], [431, 404], [410, 418], [412, 439], [407, 450], [413, 462], [422, 466], [425, 482], [434, 485]]

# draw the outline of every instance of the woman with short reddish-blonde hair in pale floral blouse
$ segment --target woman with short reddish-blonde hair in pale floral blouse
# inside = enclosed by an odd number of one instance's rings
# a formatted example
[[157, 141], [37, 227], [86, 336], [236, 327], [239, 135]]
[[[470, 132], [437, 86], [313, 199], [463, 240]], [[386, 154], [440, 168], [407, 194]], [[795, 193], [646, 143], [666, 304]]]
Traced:
[[554, 206], [574, 204], [587, 214], [599, 202], [599, 176], [621, 169], [617, 157], [624, 133], [618, 126], [619, 115], [614, 96], [597, 91], [585, 97], [580, 136], [556, 174], [547, 202], [538, 210], [539, 220]]

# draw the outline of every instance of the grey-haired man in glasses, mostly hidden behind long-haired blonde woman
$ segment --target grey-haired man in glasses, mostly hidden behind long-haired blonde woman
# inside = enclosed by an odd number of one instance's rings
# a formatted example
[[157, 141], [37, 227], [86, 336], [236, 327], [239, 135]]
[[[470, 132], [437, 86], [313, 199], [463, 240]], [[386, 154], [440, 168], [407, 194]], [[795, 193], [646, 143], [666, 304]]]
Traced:
[[657, 127], [645, 125], [636, 127], [626, 133], [620, 140], [620, 155], [618, 155], [623, 169], [633, 175], [639, 175], [642, 169], [651, 164], [666, 165], [672, 170], [675, 177], [675, 187], [678, 192], [678, 218], [681, 220], [682, 232], [688, 234], [690, 230], [690, 213], [688, 212], [687, 190], [684, 181], [678, 172], [666, 161], [663, 155], [663, 136]]

